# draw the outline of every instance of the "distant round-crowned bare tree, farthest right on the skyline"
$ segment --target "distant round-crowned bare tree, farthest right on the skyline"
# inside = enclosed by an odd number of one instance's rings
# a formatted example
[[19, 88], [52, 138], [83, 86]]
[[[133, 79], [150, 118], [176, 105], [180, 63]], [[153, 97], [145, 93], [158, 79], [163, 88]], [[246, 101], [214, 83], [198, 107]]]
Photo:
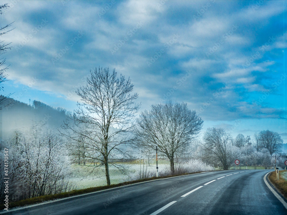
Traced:
[[264, 130], [259, 133], [259, 142], [263, 148], [266, 148], [270, 155], [281, 152], [283, 140], [278, 132]]

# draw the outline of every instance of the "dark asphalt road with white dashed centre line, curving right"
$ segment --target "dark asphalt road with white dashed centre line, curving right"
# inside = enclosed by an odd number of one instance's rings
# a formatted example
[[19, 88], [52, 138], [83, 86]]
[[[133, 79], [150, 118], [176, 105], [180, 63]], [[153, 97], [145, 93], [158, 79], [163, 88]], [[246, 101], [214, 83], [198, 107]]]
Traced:
[[160, 179], [5, 214], [287, 214], [265, 184], [270, 170], [228, 170]]

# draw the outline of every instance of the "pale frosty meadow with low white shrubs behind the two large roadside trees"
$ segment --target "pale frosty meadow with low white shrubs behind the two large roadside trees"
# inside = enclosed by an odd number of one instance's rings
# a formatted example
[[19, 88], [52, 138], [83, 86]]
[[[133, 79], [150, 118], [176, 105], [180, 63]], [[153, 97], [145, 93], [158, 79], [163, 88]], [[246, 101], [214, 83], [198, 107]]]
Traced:
[[[133, 181], [144, 178], [150, 178], [156, 176], [156, 161], [150, 161], [150, 164], [143, 165], [141, 161], [133, 162], [121, 162], [127, 170], [125, 173], [121, 173], [117, 168], [110, 166], [110, 180], [111, 184], [122, 183], [125, 181]], [[106, 185], [106, 177], [104, 173], [104, 167], [100, 168], [98, 171], [94, 170], [93, 164], [82, 166], [73, 164], [71, 166], [72, 173], [70, 175], [70, 180], [73, 181], [77, 189], [85, 189], [95, 186]], [[215, 170], [214, 167], [205, 164], [199, 159], [189, 159], [183, 163], [175, 163], [175, 173], [174, 174], [184, 174], [193, 173], [201, 171], [212, 171]], [[158, 171], [159, 176], [173, 175], [170, 171], [170, 164], [168, 161], [159, 160], [158, 161]], [[88, 174], [89, 173], [89, 174]]]

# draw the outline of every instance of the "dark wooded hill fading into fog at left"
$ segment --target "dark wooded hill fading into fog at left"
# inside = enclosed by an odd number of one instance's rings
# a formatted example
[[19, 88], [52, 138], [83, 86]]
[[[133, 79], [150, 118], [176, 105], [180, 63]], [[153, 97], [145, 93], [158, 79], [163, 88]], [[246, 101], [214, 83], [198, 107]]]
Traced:
[[[3, 98], [2, 95], [0, 100], [1, 98]], [[7, 138], [14, 130], [26, 132], [31, 126], [56, 129], [61, 126], [66, 117], [66, 110], [61, 107], [55, 109], [36, 100], [31, 101], [29, 105], [7, 98], [2, 102], [0, 110], [0, 136]]]

